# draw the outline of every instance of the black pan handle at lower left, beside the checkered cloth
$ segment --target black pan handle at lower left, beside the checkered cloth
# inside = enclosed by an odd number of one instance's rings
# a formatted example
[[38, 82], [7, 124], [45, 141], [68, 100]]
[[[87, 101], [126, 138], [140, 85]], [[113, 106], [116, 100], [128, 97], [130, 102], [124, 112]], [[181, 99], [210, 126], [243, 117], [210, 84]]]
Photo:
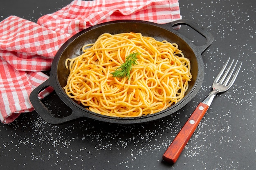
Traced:
[[43, 102], [41, 102], [41, 100], [38, 98], [38, 94], [45, 88], [51, 86], [50, 84], [52, 84], [52, 82], [49, 78], [45, 82], [40, 84], [37, 88], [35, 88], [29, 95], [30, 102], [38, 115], [40, 115], [45, 121], [50, 124], [62, 124], [64, 122], [82, 117], [81, 115], [75, 113], [74, 110], [72, 110], [71, 115], [68, 115], [66, 117], [54, 117], [52, 115], [52, 113], [47, 109]]

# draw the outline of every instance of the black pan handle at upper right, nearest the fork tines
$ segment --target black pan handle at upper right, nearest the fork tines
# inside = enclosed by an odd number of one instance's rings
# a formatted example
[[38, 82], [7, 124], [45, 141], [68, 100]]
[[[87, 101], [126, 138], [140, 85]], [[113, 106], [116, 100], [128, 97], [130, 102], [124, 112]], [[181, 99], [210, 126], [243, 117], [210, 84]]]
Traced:
[[200, 33], [202, 36], [204, 36], [204, 38], [206, 39], [206, 42], [204, 45], [202, 46], [196, 46], [195, 44], [193, 44], [193, 46], [195, 47], [196, 50], [200, 51], [201, 54], [213, 43], [213, 35], [207, 31], [206, 29], [204, 29], [202, 26], [200, 26], [199, 24], [191, 21], [191, 20], [177, 20], [177, 21], [173, 21], [171, 22], [172, 26], [178, 26], [178, 25], [187, 25], [190, 26], [192, 29], [194, 29], [195, 31], [197, 31], [198, 33]]

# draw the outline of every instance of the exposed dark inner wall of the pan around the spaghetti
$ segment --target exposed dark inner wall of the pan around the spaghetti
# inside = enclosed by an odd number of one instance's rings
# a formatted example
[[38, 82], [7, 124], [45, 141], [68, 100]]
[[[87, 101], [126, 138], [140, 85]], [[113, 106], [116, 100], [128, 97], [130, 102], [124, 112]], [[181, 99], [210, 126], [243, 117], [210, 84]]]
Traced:
[[[114, 24], [106, 24], [89, 30], [84, 30], [77, 36], [75, 35], [73, 39], [71, 38], [71, 41], [68, 42], [66, 46], [64, 45], [63, 52], [60, 53], [59, 56], [56, 56], [59, 58], [55, 69], [55, 75], [57, 75], [57, 80], [61, 86], [59, 88], [63, 88], [67, 84], [67, 77], [70, 73], [69, 70], [65, 68], [65, 60], [67, 58], [74, 58], [81, 55], [82, 46], [85, 44], [94, 43], [103, 33], [117, 34], [125, 32], [139, 32], [143, 36], [150, 36], [158, 41], [167, 40], [171, 43], [177, 43], [179, 46], [178, 48], [182, 50], [182, 53], [191, 62], [192, 79], [191, 82], [189, 82], [189, 89], [185, 93], [185, 95], [188, 95], [191, 89], [195, 86], [195, 81], [198, 76], [197, 58], [191, 47], [184, 40], [182, 40], [182, 38], [171, 31], [157, 25], [137, 22], [117, 22]], [[65, 95], [64, 91], [63, 94]]]

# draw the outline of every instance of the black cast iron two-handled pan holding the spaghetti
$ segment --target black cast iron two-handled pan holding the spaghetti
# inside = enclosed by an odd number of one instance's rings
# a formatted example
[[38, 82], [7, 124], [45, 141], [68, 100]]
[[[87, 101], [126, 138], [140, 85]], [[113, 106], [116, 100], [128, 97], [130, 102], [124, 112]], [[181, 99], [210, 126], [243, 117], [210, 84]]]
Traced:
[[[206, 38], [206, 43], [202, 46], [197, 46], [184, 37], [181, 33], [173, 29], [174, 26], [182, 24], [188, 25], [200, 33], [204, 38]], [[80, 106], [65, 94], [63, 87], [65, 86], [67, 77], [69, 75], [69, 70], [65, 68], [65, 60], [67, 58], [80, 55], [81, 47], [84, 44], [94, 43], [102, 33], [117, 34], [124, 32], [140, 32], [143, 36], [150, 36], [159, 41], [167, 40], [168, 42], [177, 43], [179, 45], [179, 49], [182, 50], [185, 57], [189, 58], [191, 62], [191, 74], [193, 76], [191, 82], [189, 82], [189, 89], [180, 102], [174, 104], [166, 110], [152, 115], [129, 118], [108, 117], [85, 109], [83, 106]], [[70, 38], [70, 40], [65, 42], [63, 46], [61, 46], [53, 60], [49, 79], [31, 92], [30, 101], [36, 112], [43, 119], [45, 119], [45, 121], [51, 124], [61, 124], [80, 117], [88, 117], [99, 121], [117, 124], [137, 124], [160, 119], [162, 117], [171, 115], [180, 108], [184, 107], [198, 93], [204, 79], [204, 64], [201, 54], [211, 45], [212, 42], [213, 36], [211, 33], [191, 20], [177, 20], [167, 24], [156, 24], [153, 22], [137, 20], [121, 20], [98, 24], [77, 33]], [[52, 86], [58, 97], [72, 109], [72, 113], [70, 113], [70, 115], [65, 117], [55, 117], [45, 107], [43, 102], [38, 99], [38, 93], [43, 91], [48, 86]]]

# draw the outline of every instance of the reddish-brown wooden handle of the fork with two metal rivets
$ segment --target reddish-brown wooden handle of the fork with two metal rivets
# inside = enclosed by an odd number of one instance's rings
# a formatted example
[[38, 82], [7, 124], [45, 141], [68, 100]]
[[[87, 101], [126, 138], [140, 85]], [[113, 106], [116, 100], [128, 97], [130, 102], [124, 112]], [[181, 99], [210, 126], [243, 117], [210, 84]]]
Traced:
[[203, 104], [202, 102], [197, 106], [197, 108], [189, 117], [188, 121], [186, 121], [186, 124], [184, 124], [184, 126], [182, 127], [178, 135], [175, 137], [171, 145], [164, 152], [164, 161], [168, 163], [175, 163], [177, 161], [182, 150], [185, 148], [189, 139], [195, 132], [195, 129], [197, 128], [198, 124], [204, 117], [204, 114], [206, 113], [208, 108], [209, 106]]

